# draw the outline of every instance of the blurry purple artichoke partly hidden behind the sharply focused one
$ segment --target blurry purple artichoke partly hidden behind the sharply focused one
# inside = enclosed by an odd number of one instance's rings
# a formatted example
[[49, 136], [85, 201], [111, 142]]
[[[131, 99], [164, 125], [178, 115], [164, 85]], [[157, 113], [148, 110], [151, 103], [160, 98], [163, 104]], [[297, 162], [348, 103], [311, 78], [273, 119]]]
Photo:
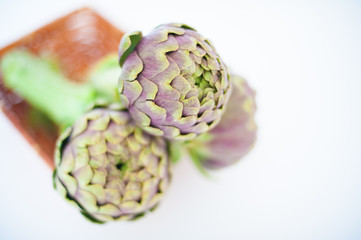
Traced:
[[193, 160], [208, 169], [236, 163], [256, 141], [255, 92], [241, 77], [232, 75], [230, 82], [231, 96], [219, 124], [186, 145]]

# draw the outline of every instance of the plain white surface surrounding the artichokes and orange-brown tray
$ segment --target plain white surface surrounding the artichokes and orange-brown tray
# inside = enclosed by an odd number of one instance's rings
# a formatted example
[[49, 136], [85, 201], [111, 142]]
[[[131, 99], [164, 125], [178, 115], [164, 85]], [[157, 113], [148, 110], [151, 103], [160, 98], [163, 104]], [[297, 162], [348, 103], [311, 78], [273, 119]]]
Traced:
[[94, 225], [1, 114], [0, 239], [361, 239], [360, 2], [73, 2], [0, 0], [0, 46], [86, 5], [125, 31], [186, 22], [258, 92], [258, 142], [214, 180], [183, 160], [157, 211]]

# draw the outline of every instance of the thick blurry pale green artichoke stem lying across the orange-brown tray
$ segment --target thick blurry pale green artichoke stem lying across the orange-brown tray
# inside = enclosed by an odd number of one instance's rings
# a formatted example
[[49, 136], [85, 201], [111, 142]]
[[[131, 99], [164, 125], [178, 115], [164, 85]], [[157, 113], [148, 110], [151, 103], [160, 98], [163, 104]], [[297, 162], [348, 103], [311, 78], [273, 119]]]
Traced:
[[55, 64], [26, 51], [12, 51], [1, 61], [5, 85], [61, 127], [72, 125], [95, 98], [87, 84], [66, 79]]

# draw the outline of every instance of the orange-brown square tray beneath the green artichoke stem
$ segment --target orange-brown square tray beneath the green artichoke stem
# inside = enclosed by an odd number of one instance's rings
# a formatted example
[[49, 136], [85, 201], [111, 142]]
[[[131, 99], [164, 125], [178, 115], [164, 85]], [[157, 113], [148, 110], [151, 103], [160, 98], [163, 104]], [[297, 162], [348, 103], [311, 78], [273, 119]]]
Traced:
[[[89, 8], [77, 10], [36, 30], [0, 50], [25, 48], [39, 55], [51, 53], [65, 76], [84, 81], [90, 67], [103, 56], [117, 51], [123, 32]], [[45, 162], [54, 167], [53, 155], [58, 127], [25, 100], [6, 89], [0, 72], [0, 107], [18, 131]]]

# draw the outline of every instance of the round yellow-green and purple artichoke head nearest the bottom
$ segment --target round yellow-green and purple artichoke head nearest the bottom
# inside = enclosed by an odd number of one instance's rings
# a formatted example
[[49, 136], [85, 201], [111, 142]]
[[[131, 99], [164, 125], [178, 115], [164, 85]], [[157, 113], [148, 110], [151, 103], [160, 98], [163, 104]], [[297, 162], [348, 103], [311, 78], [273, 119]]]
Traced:
[[118, 103], [96, 106], [65, 130], [55, 161], [55, 188], [94, 222], [143, 216], [170, 179], [165, 140], [135, 126]]

